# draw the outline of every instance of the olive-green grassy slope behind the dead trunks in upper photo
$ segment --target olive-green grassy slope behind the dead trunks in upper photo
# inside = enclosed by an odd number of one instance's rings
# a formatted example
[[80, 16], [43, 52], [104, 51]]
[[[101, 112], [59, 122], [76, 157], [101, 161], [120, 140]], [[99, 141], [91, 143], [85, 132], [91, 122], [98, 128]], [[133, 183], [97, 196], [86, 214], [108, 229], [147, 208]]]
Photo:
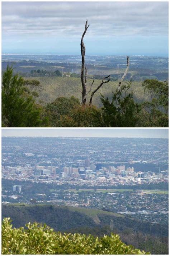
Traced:
[[[25, 78], [30, 80], [38, 80], [40, 81], [41, 85], [43, 86], [43, 90], [39, 93], [39, 100], [43, 100], [44, 103], [51, 102], [55, 100], [57, 97], [60, 96], [72, 96], [74, 95], [76, 98], [81, 99], [81, 93], [75, 89], [77, 87], [79, 90], [81, 90], [81, 80], [80, 78], [75, 77], [32, 77], [32, 78]], [[92, 79], [88, 80], [87, 88], [90, 87], [92, 83]], [[93, 89], [95, 89], [99, 84], [101, 80], [95, 80], [93, 84]], [[111, 81], [107, 84], [104, 84], [99, 89], [94, 98], [93, 103], [96, 106], [101, 106], [100, 101], [100, 93], [102, 93], [104, 96], [107, 96], [109, 99], [112, 98], [112, 92], [115, 91], [115, 89], [118, 86], [118, 81]], [[143, 88], [142, 88], [142, 81], [140, 82], [132, 82], [132, 89], [134, 92], [134, 98], [137, 102], [141, 102], [143, 100], [148, 100], [149, 95], [144, 95]], [[90, 94], [88, 95], [89, 102]]]

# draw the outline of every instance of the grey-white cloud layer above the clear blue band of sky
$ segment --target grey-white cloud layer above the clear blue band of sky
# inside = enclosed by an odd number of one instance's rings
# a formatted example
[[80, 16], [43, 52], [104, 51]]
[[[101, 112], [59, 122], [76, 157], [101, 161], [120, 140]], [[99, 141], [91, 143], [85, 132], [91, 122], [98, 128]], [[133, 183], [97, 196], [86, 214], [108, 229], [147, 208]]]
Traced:
[[167, 35], [168, 2], [3, 2], [5, 36]]

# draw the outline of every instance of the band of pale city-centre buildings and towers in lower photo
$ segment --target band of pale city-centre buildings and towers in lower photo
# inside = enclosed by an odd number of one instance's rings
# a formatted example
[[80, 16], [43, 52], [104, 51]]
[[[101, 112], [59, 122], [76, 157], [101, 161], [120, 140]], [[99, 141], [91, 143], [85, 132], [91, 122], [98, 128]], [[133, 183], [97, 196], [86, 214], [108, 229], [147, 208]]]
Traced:
[[[106, 165], [104, 165], [106, 166]], [[168, 182], [168, 171], [137, 171], [126, 165], [107, 165], [91, 162], [89, 158], [78, 164], [61, 166], [44, 166], [38, 163], [32, 166], [4, 166], [2, 178], [19, 181], [70, 184], [76, 186], [117, 186]]]

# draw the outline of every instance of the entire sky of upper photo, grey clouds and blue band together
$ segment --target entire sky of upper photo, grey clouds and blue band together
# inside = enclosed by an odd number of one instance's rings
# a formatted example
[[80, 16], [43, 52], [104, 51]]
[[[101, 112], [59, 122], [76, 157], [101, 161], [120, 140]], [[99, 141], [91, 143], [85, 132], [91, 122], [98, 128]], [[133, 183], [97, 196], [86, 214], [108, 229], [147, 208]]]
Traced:
[[168, 2], [2, 2], [2, 53], [168, 55]]

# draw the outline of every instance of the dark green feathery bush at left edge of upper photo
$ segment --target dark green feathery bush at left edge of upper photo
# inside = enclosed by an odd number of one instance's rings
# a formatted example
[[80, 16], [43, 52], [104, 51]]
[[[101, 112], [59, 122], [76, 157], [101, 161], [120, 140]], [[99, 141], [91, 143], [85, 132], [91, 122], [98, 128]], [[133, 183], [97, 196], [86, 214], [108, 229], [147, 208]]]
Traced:
[[41, 126], [40, 109], [33, 98], [37, 94], [35, 95], [35, 92], [30, 94], [21, 76], [17, 74], [13, 76], [12, 67], [7, 66], [2, 84], [2, 126]]

